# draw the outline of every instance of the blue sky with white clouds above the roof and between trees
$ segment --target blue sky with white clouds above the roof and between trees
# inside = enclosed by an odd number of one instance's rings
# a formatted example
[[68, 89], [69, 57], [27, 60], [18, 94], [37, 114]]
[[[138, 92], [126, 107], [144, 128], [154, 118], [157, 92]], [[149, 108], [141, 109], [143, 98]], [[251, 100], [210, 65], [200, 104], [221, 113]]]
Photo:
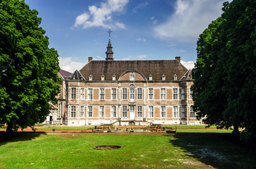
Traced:
[[115, 60], [181, 56], [192, 68], [199, 34], [218, 18], [226, 0], [25, 0], [42, 18], [59, 65], [71, 73], [105, 59], [108, 33]]

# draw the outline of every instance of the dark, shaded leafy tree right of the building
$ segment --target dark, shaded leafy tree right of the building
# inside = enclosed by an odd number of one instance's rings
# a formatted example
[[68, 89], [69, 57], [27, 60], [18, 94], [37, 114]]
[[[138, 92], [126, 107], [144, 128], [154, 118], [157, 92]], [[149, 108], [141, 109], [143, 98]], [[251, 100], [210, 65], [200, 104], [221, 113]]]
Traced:
[[223, 4], [223, 14], [199, 36], [192, 76], [198, 118], [256, 137], [255, 0]]

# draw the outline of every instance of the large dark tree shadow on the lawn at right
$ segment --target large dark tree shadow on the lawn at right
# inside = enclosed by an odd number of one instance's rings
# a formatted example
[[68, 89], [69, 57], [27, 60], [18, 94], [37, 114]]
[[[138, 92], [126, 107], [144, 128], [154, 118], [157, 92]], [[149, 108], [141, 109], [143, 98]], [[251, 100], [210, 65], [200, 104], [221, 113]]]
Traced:
[[240, 142], [231, 133], [179, 133], [170, 143], [214, 168], [256, 168], [255, 142]]

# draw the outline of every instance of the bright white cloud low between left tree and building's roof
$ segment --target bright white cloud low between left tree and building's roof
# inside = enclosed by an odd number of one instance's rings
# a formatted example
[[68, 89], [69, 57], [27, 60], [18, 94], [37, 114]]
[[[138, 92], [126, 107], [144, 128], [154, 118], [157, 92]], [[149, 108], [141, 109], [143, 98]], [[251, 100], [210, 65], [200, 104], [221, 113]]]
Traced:
[[59, 67], [62, 70], [66, 70], [70, 73], [74, 73], [75, 70], [80, 70], [83, 68], [83, 65], [86, 65], [86, 63], [81, 62], [75, 62], [75, 58], [68, 57], [68, 58], [62, 58], [59, 57]]

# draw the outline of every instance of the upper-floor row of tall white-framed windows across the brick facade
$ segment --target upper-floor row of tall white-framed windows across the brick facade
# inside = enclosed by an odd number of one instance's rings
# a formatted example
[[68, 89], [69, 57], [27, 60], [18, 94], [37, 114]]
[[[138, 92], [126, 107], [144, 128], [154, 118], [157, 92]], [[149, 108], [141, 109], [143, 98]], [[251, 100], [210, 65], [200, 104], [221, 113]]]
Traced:
[[[127, 94], [127, 88], [122, 88], [122, 100], [127, 100], [128, 99], [128, 94]], [[173, 100], [178, 100], [179, 99], [179, 92], [178, 88], [173, 88]], [[186, 99], [185, 94], [186, 94], [186, 89], [181, 88], [180, 91], [181, 98], [182, 100]], [[85, 98], [85, 88], [81, 88], [81, 100], [86, 99]], [[100, 88], [99, 90], [99, 95], [100, 95], [100, 100], [105, 100], [105, 89]], [[149, 88], [149, 100], [154, 99], [154, 89]], [[161, 88], [161, 93], [160, 93], [160, 98], [161, 100], [166, 99], [166, 89]], [[71, 99], [78, 99], [77, 94], [76, 94], [76, 87], [71, 87]], [[111, 99], [112, 100], [117, 100], [117, 89], [112, 88], [111, 89]], [[135, 99], [135, 89], [129, 89], [129, 99], [134, 100]], [[143, 89], [138, 88], [136, 91], [136, 99], [142, 100], [143, 99]], [[190, 90], [190, 99], [192, 99], [192, 91]], [[88, 100], [93, 100], [93, 88], [88, 88]]]

